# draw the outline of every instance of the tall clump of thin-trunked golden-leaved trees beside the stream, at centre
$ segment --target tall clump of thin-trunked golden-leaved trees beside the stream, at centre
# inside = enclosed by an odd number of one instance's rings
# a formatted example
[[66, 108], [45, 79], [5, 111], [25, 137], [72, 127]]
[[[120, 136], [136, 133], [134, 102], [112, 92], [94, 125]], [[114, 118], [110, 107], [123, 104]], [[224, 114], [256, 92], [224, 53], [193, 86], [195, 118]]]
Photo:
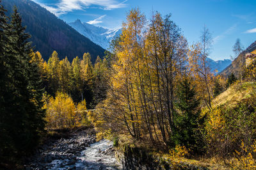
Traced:
[[122, 29], [113, 43], [107, 97], [93, 120], [103, 132], [166, 145], [173, 134], [175, 84], [186, 64], [186, 39], [170, 15], [157, 13], [148, 25], [138, 8]]

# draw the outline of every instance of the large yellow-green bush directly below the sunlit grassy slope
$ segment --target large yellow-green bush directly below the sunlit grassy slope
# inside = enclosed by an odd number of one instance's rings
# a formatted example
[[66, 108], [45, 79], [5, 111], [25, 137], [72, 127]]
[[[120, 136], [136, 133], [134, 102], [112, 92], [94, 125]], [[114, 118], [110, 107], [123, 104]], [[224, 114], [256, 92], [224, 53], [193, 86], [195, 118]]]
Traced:
[[205, 124], [208, 153], [227, 158], [240, 148], [242, 139], [246, 146], [252, 145], [256, 137], [255, 101], [253, 97], [235, 107], [220, 105], [208, 112]]

